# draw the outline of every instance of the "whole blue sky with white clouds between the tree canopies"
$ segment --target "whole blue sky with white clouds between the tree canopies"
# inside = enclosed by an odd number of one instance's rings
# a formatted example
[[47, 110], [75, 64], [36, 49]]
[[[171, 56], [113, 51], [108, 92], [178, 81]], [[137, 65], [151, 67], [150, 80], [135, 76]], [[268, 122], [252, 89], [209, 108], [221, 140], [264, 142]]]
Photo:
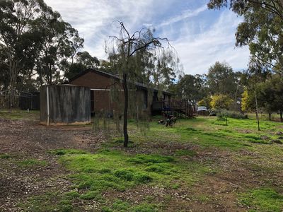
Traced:
[[45, 0], [62, 18], [79, 30], [84, 49], [106, 59], [105, 41], [119, 35], [115, 20], [134, 33], [155, 29], [167, 37], [187, 74], [207, 73], [216, 61], [227, 62], [235, 71], [247, 68], [248, 47], [235, 47], [241, 17], [228, 9], [209, 10], [208, 0]]

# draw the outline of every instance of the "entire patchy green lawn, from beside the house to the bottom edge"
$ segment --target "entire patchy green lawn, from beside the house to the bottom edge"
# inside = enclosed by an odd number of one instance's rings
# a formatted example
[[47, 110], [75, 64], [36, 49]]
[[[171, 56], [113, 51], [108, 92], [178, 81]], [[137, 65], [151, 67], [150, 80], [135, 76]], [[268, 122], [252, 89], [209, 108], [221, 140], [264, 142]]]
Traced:
[[[262, 119], [261, 131], [257, 130], [255, 119], [229, 119], [228, 126], [215, 117], [181, 119], [175, 126], [167, 128], [155, 120], [149, 125], [144, 136], [144, 131], [137, 131], [134, 122], [129, 123], [127, 149], [122, 148], [122, 138], [113, 136], [96, 153], [76, 149], [48, 151], [71, 173], [64, 176], [71, 182], [69, 192], [31, 197], [23, 208], [31, 208], [30, 211], [44, 211], [43, 208], [47, 211], [81, 211], [82, 208], [76, 208], [77, 203], [96, 202], [98, 211], [163, 211], [168, 206], [166, 204], [172, 204], [178, 198], [171, 193], [192, 191], [196, 183], [201, 185], [207, 177], [224, 174], [221, 173], [224, 159], [225, 167], [233, 161], [232, 168], [236, 165], [251, 174], [248, 176], [255, 176], [255, 180], [248, 181], [249, 188], [259, 187], [258, 182], [267, 187], [239, 194], [238, 201], [242, 205], [251, 211], [282, 211], [282, 194], [279, 193], [282, 188], [272, 189], [278, 182], [276, 177], [270, 179], [270, 176], [278, 177], [278, 172], [283, 170], [283, 146], [271, 142], [277, 139], [277, 131], [283, 131], [281, 123]], [[215, 159], [217, 155], [220, 160]], [[21, 167], [45, 165], [33, 159], [21, 163]], [[229, 173], [224, 175], [229, 179]], [[237, 183], [246, 189], [246, 182]], [[137, 202], [134, 199], [126, 201], [123, 196], [136, 189], [156, 187], [166, 188], [169, 193], [162, 197], [142, 196], [139, 190], [142, 198]], [[215, 201], [211, 194], [197, 191], [190, 198], [199, 204]]]

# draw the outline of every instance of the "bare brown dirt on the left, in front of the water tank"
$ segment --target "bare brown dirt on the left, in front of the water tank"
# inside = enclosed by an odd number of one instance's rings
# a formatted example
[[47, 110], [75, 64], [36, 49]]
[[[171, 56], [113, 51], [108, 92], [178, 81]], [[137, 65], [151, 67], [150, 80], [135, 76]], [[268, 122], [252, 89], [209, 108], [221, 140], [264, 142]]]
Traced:
[[62, 177], [67, 171], [47, 151], [59, 148], [94, 151], [101, 141], [90, 126], [46, 127], [37, 122], [0, 119], [0, 154], [11, 155], [14, 160], [36, 158], [48, 162], [35, 170], [18, 169], [8, 160], [1, 160], [0, 211], [18, 211], [18, 202], [28, 196], [56, 187], [63, 192], [69, 187], [70, 182]]

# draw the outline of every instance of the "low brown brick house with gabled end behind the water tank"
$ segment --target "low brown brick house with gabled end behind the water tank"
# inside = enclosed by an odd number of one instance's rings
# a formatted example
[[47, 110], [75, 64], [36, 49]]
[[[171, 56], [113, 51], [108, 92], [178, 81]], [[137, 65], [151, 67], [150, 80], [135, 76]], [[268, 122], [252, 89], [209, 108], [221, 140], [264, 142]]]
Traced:
[[[87, 69], [71, 78], [67, 83], [91, 88], [92, 113], [103, 110], [112, 114], [113, 110], [122, 110], [122, 104], [118, 104], [117, 101], [123, 102], [124, 97], [121, 92], [123, 89], [121, 79], [115, 75], [96, 69]], [[111, 96], [113, 90], [120, 93], [118, 95], [120, 97], [115, 100]], [[149, 92], [149, 88], [141, 83], [135, 83], [134, 89], [129, 88], [129, 95], [132, 97], [130, 100], [135, 101], [134, 105], [142, 107], [147, 114], [158, 114], [163, 110], [167, 110], [166, 107], [171, 101], [171, 93], [163, 91], [161, 98], [160, 96], [158, 98], [158, 90], [153, 89]]]

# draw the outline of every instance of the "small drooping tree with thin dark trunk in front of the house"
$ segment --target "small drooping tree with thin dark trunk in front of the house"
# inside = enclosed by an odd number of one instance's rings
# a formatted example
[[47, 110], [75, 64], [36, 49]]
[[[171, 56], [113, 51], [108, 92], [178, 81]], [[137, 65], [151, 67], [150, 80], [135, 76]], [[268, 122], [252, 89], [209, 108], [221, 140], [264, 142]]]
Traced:
[[[120, 22], [120, 35], [112, 36], [112, 40], [115, 43], [108, 54], [117, 56], [116, 67], [122, 78], [123, 134], [124, 146], [127, 147], [129, 142], [127, 132], [129, 86], [134, 85], [137, 80], [145, 81], [149, 87], [150, 84], [158, 85], [161, 81], [166, 81], [166, 78], [173, 75], [174, 66], [178, 64], [178, 60], [173, 52], [170, 52], [172, 48], [167, 38], [154, 37], [151, 30], [145, 28], [131, 34], [124, 23]], [[167, 47], [163, 47], [164, 44]], [[160, 73], [162, 78], [156, 78], [157, 73]]]

